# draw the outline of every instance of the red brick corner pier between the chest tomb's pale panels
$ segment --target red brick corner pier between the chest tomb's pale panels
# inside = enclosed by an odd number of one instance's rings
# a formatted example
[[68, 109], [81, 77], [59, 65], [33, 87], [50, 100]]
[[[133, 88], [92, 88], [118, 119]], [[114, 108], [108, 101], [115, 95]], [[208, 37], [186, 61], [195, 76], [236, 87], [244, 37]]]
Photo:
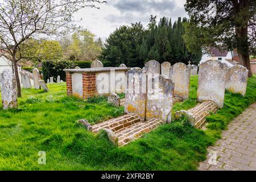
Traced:
[[96, 74], [82, 73], [82, 96], [84, 99], [93, 97], [96, 94]]

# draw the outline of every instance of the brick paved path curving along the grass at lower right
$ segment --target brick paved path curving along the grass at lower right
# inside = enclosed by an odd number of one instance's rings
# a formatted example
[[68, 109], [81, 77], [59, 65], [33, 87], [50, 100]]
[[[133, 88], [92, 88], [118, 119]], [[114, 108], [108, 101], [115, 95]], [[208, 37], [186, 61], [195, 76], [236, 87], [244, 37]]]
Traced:
[[200, 163], [199, 170], [256, 170], [256, 102], [208, 148], [207, 160]]

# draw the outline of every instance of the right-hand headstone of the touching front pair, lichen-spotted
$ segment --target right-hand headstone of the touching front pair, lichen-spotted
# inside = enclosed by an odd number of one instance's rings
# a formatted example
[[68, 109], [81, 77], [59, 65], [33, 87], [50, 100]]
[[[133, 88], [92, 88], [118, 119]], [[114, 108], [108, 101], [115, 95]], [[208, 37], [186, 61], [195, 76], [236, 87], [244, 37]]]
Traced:
[[[156, 77], [158, 77], [158, 79], [156, 79]], [[147, 92], [146, 121], [155, 118], [170, 123], [174, 84], [167, 76], [159, 75], [156, 77], [154, 77], [154, 82], [158, 80], [158, 84], [154, 83], [154, 91], [151, 92], [148, 90]], [[147, 79], [147, 82], [149, 81], [152, 80]], [[154, 96], [152, 96], [152, 94], [154, 94]]]

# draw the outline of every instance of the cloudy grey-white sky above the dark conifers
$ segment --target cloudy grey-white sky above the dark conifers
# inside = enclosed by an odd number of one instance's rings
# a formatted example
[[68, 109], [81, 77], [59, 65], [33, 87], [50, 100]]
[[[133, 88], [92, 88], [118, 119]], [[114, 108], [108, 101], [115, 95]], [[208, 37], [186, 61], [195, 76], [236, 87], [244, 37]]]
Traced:
[[147, 25], [150, 15], [159, 18], [187, 16], [184, 10], [185, 0], [106, 0], [98, 5], [100, 9], [85, 8], [75, 14], [75, 19], [82, 20], [77, 25], [88, 28], [96, 36], [108, 38], [115, 28], [122, 24], [142, 22]]

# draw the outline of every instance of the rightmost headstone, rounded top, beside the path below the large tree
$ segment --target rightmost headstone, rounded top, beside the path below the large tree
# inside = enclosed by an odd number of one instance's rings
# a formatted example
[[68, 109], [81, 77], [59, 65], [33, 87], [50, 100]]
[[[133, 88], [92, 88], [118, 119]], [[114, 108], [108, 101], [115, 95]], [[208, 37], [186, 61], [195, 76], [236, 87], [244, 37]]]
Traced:
[[248, 70], [242, 65], [234, 65], [228, 69], [226, 76], [226, 90], [245, 96]]

